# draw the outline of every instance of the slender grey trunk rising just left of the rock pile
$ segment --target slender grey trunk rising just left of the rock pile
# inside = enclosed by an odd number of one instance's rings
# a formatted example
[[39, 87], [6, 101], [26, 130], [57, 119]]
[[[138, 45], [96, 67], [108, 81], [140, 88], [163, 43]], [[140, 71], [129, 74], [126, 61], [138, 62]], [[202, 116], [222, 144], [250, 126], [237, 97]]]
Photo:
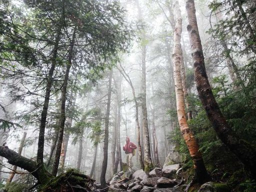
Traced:
[[102, 160], [102, 169], [100, 174], [100, 185], [102, 188], [106, 186], [105, 176], [106, 176], [107, 154], [108, 154], [108, 126], [109, 126], [109, 113], [110, 113], [110, 101], [111, 101], [111, 84], [112, 84], [112, 70], [109, 72], [106, 114], [105, 114], [103, 160]]

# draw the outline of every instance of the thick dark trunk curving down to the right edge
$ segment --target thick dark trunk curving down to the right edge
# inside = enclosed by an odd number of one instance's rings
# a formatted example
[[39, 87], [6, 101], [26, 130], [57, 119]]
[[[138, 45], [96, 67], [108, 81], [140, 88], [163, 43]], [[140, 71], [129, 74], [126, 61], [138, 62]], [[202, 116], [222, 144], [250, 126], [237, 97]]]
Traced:
[[195, 16], [194, 0], [186, 0], [186, 11], [188, 18], [187, 30], [191, 43], [196, 88], [206, 111], [206, 115], [219, 139], [241, 160], [245, 168], [249, 169], [255, 178], [256, 149], [246, 141], [240, 139], [231, 129], [212, 94], [204, 66], [202, 45]]

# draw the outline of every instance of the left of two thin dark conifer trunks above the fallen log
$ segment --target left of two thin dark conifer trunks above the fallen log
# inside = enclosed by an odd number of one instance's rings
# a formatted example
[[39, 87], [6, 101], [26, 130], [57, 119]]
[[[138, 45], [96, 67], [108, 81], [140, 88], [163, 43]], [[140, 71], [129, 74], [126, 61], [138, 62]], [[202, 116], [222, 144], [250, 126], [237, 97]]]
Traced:
[[46, 85], [43, 107], [41, 112], [39, 136], [38, 136], [38, 144], [37, 144], [38, 148], [37, 148], [37, 157], [36, 157], [36, 161], [38, 165], [43, 163], [44, 131], [45, 131], [46, 117], [47, 117], [47, 111], [48, 111], [48, 105], [49, 105], [49, 99], [50, 99], [50, 89], [53, 81], [53, 72], [56, 66], [57, 49], [58, 49], [58, 43], [60, 39], [60, 33], [61, 33], [61, 26], [58, 26], [54, 47], [52, 50], [51, 66], [49, 69], [49, 73], [47, 75], [47, 85]]

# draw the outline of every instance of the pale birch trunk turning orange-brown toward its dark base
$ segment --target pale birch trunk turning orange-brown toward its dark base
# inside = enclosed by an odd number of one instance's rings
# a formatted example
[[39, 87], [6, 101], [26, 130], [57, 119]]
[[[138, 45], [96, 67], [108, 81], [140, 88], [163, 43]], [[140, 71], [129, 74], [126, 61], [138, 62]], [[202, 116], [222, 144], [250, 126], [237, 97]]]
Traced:
[[182, 62], [182, 50], [181, 50], [181, 31], [182, 31], [182, 18], [179, 9], [178, 1], [175, 3], [176, 9], [176, 25], [174, 30], [174, 48], [172, 53], [173, 69], [174, 69], [174, 82], [175, 82], [175, 95], [176, 95], [176, 107], [177, 116], [180, 131], [183, 135], [187, 148], [189, 150], [190, 156], [192, 157], [195, 177], [197, 182], [202, 183], [205, 179], [209, 179], [208, 173], [203, 163], [201, 153], [199, 152], [199, 147], [197, 145], [196, 139], [193, 136], [190, 128], [187, 125], [186, 115], [185, 115], [185, 104], [184, 104], [184, 93], [183, 84], [181, 76], [181, 62]]

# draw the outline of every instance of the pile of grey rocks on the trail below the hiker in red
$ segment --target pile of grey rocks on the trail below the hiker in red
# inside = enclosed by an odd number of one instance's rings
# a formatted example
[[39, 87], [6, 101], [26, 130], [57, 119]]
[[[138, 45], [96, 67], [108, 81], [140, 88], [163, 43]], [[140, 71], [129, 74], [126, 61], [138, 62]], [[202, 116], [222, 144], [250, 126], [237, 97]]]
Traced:
[[[177, 180], [176, 175], [180, 170], [179, 164], [172, 164], [164, 168], [154, 168], [148, 174], [142, 169], [136, 170], [129, 178], [130, 172], [119, 172], [109, 182], [110, 192], [141, 191], [141, 192], [176, 192], [183, 191], [182, 179]], [[121, 181], [121, 182], [119, 182]]]

